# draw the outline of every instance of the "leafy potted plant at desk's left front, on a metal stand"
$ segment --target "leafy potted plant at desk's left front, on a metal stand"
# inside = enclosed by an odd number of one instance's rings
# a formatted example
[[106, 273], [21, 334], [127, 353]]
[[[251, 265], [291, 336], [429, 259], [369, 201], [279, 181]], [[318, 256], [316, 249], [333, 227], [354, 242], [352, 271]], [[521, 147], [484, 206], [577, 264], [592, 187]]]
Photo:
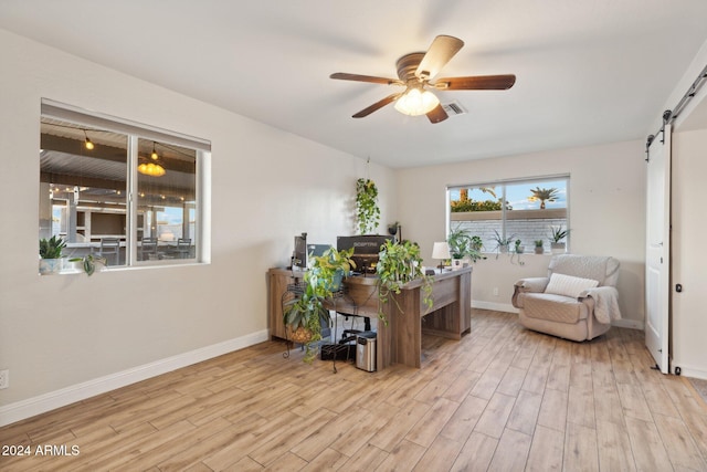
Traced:
[[330, 248], [324, 254], [312, 258], [312, 268], [305, 272], [297, 296], [283, 306], [283, 323], [289, 328], [291, 340], [305, 346], [306, 363], [312, 363], [317, 355], [316, 345], [321, 340], [321, 327], [331, 325], [329, 311], [324, 303], [334, 297], [341, 280], [356, 268], [352, 254], [352, 248], [341, 251]]

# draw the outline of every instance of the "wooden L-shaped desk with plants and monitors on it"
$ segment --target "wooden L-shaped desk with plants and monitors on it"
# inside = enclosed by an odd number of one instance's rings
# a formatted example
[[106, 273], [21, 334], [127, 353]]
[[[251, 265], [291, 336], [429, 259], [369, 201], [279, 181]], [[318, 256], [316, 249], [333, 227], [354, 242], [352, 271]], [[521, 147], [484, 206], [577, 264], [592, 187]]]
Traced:
[[[268, 281], [268, 326], [271, 338], [285, 338], [282, 295], [287, 285], [302, 280], [304, 272], [271, 269]], [[346, 296], [330, 305], [338, 313], [378, 316], [378, 287], [373, 276], [354, 276], [344, 281]], [[400, 295], [382, 306], [388, 325], [378, 323], [377, 368], [392, 364], [421, 366], [422, 334], [461, 339], [472, 327], [472, 268], [434, 275], [433, 306], [425, 312], [422, 281], [405, 284]], [[400, 307], [400, 308], [399, 308]]]

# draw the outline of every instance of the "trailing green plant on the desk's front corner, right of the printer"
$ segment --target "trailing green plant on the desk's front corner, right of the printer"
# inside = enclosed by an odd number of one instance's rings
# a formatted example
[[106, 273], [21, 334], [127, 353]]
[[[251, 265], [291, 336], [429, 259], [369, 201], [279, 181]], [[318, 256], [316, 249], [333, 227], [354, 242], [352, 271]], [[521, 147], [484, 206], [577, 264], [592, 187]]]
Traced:
[[380, 304], [388, 303], [391, 293], [400, 294], [401, 287], [415, 279], [422, 279], [423, 305], [426, 310], [432, 307], [432, 277], [423, 272], [420, 247], [416, 243], [386, 241], [378, 256], [376, 273], [378, 274], [378, 317], [383, 323], [388, 322]]

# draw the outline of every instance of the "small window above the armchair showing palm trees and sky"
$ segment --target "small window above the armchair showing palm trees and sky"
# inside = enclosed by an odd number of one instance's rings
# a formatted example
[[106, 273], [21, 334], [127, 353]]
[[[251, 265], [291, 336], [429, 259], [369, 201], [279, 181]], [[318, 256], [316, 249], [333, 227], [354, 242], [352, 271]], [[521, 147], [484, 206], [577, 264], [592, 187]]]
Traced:
[[568, 189], [569, 176], [449, 187], [447, 228], [479, 237], [485, 252], [504, 251], [502, 241], [549, 251], [552, 232], [569, 228]]

